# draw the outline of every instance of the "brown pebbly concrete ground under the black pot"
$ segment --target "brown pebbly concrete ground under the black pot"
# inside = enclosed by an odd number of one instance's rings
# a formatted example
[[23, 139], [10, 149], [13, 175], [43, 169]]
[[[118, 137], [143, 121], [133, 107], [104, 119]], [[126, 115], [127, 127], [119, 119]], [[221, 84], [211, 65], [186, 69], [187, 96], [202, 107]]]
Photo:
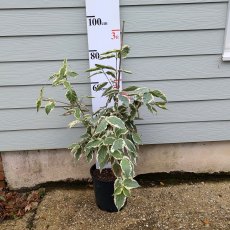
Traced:
[[55, 188], [34, 213], [5, 221], [1, 230], [230, 229], [230, 181], [136, 189], [119, 213], [95, 206], [92, 188]]

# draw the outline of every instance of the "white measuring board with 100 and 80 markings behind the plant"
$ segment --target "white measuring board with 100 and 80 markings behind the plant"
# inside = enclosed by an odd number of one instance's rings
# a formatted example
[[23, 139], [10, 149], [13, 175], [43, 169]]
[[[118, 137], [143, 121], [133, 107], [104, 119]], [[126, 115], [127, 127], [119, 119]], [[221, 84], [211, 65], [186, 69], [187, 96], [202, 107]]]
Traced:
[[[116, 68], [115, 59], [100, 60], [100, 54], [109, 50], [120, 49], [119, 0], [86, 0], [86, 18], [90, 68], [95, 67], [95, 64]], [[94, 97], [92, 109], [94, 112], [106, 105], [106, 98], [102, 97], [102, 91], [95, 91], [95, 87], [102, 82], [108, 82], [104, 74], [91, 77], [91, 95]]]

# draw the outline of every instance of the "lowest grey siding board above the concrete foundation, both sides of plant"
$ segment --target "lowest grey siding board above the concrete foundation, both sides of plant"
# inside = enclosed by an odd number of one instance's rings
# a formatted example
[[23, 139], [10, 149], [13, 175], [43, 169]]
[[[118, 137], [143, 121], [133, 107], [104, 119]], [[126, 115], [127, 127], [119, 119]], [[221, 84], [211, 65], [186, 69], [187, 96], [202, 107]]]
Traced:
[[[139, 125], [143, 144], [164, 144], [230, 139], [230, 121]], [[225, 130], [225, 132], [223, 132]], [[67, 148], [83, 129], [45, 129], [0, 132], [0, 151]]]

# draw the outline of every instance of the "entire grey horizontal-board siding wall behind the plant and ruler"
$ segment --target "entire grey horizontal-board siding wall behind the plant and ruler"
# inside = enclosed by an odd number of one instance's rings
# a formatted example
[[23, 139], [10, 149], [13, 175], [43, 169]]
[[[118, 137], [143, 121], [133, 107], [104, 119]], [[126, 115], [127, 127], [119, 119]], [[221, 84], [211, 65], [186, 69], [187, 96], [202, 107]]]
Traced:
[[[121, 0], [132, 48], [124, 65], [133, 72], [123, 85], [159, 88], [169, 100], [168, 111], [141, 111], [144, 144], [230, 140], [230, 63], [221, 61], [227, 3]], [[42, 85], [63, 99], [48, 77], [64, 58], [80, 73], [88, 68], [83, 0], [1, 1], [0, 151], [66, 148], [79, 138], [82, 128], [67, 129], [61, 108], [50, 116], [34, 108]], [[74, 83], [90, 93], [87, 78]]]

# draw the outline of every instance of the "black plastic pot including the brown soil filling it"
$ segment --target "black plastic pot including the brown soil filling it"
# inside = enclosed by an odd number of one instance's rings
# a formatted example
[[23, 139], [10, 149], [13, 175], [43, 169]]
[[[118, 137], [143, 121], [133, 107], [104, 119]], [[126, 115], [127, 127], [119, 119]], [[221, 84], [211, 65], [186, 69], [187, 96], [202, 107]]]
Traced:
[[103, 169], [102, 172], [96, 169], [96, 165], [93, 165], [90, 169], [91, 176], [93, 178], [93, 186], [96, 198], [97, 206], [107, 212], [117, 212], [117, 208], [114, 204], [114, 176], [111, 169]]

